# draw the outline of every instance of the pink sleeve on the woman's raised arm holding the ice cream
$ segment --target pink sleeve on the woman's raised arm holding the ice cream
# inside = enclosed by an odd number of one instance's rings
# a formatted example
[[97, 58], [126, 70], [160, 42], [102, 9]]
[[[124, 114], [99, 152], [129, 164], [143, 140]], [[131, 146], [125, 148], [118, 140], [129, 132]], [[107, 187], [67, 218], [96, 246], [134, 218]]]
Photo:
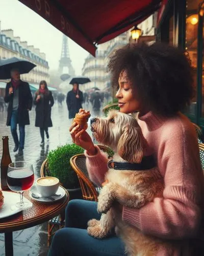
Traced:
[[108, 157], [106, 153], [100, 151], [98, 146], [95, 145], [95, 147], [96, 155], [89, 156], [87, 151], [85, 151], [84, 154], [86, 156], [86, 166], [90, 180], [96, 185], [101, 186], [108, 170]]

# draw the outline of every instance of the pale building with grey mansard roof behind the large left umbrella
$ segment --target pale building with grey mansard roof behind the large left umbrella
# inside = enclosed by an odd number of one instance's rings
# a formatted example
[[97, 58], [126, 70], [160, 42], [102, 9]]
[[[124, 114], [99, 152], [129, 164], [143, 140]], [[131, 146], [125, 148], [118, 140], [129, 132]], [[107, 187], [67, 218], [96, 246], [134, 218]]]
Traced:
[[39, 84], [41, 80], [49, 83], [49, 66], [45, 54], [34, 46], [28, 46], [27, 41], [21, 41], [20, 37], [14, 36], [13, 30], [0, 29], [0, 59], [11, 57], [26, 59], [36, 65], [28, 74], [21, 75], [22, 80], [34, 84]]

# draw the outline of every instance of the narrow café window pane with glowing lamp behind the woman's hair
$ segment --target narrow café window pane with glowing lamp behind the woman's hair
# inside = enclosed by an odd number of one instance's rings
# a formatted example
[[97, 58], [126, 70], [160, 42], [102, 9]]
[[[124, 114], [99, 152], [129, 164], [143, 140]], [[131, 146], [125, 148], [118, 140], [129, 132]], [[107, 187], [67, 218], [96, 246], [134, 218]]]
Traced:
[[[195, 96], [192, 100], [188, 113], [196, 114], [197, 104], [197, 34], [198, 34], [198, 5], [200, 0], [186, 1], [186, 53], [193, 67], [193, 86]], [[203, 90], [204, 93], [204, 90]], [[204, 95], [204, 94], [203, 94]]]

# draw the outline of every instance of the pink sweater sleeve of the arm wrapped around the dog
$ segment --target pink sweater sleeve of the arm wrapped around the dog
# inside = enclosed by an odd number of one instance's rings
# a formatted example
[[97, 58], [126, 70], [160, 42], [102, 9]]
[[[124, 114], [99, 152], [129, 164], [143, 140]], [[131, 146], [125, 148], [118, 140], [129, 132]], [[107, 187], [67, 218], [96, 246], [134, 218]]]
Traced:
[[201, 222], [204, 184], [196, 136], [184, 127], [183, 131], [176, 131], [175, 127], [161, 148], [158, 166], [164, 177], [163, 198], [155, 198], [140, 209], [123, 207], [122, 218], [160, 238], [194, 237]]

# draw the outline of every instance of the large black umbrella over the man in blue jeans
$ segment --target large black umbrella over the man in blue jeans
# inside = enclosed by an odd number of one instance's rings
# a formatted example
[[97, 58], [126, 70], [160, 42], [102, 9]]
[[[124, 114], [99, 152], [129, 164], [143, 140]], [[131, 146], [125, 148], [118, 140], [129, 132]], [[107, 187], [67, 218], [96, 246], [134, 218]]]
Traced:
[[11, 70], [18, 69], [20, 74], [29, 73], [36, 65], [32, 62], [20, 59], [20, 58], [9, 58], [0, 60], [0, 79], [11, 78]]

